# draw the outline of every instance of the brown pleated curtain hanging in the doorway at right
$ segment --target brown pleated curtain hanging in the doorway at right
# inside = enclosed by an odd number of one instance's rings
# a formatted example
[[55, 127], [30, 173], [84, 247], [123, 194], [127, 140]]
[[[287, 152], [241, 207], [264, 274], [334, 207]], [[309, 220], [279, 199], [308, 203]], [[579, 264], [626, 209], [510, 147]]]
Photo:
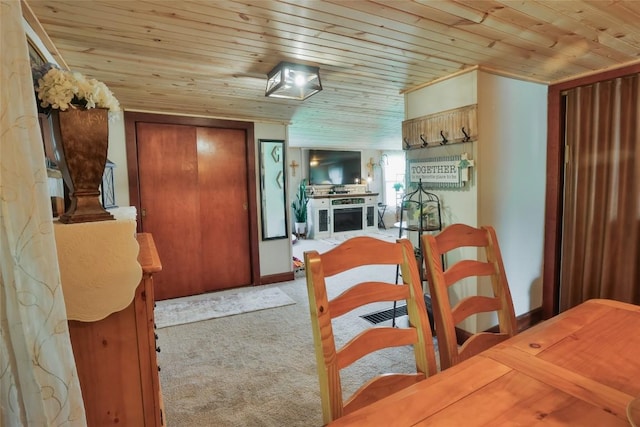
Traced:
[[639, 74], [567, 93], [560, 311], [640, 304]]

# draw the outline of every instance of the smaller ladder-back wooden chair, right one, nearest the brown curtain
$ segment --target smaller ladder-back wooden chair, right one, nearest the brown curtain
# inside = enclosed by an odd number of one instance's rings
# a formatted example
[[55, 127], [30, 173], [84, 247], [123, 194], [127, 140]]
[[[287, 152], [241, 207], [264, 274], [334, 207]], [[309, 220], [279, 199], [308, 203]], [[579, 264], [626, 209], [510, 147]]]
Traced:
[[[474, 228], [464, 224], [452, 224], [437, 235], [423, 235], [422, 247], [425, 251], [427, 280], [431, 290], [431, 303], [438, 337], [440, 369], [453, 366], [517, 333], [511, 292], [493, 227]], [[484, 252], [482, 257], [486, 257], [486, 262], [462, 259], [444, 270], [442, 265], [444, 255], [463, 247], [479, 248], [478, 252]], [[464, 278], [473, 276], [490, 277], [493, 296], [468, 296], [452, 307], [449, 300], [449, 287]], [[476, 333], [459, 347], [456, 339], [456, 325], [471, 315], [492, 311], [497, 313], [499, 332]]]

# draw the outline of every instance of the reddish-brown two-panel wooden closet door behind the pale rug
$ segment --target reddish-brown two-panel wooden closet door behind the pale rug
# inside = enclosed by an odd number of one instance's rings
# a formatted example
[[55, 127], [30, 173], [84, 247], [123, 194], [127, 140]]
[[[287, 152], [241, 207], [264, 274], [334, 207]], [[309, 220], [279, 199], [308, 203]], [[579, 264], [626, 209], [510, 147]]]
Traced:
[[251, 284], [245, 131], [138, 122], [136, 140], [156, 299]]

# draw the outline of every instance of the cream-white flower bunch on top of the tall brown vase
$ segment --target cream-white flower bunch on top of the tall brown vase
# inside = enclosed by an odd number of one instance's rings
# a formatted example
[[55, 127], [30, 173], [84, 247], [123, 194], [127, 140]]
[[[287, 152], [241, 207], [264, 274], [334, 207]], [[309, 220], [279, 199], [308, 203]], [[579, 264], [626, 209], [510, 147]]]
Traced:
[[107, 108], [120, 111], [120, 103], [111, 90], [96, 79], [80, 73], [60, 70], [53, 64], [33, 70], [40, 107], [44, 111], [69, 108]]

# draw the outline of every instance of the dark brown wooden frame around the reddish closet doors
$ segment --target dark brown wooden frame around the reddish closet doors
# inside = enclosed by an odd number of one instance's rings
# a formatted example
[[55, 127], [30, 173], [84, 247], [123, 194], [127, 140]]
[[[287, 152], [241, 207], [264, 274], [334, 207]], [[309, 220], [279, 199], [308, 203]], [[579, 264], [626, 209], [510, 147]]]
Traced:
[[[127, 151], [127, 174], [129, 178], [129, 203], [138, 212], [140, 206], [140, 175], [138, 168], [138, 141], [136, 123], [159, 123], [196, 127], [241, 129], [245, 131], [247, 140], [247, 197], [249, 209], [249, 258], [251, 267], [251, 283], [260, 284], [260, 251], [258, 246], [258, 207], [256, 196], [256, 148], [253, 122], [212, 119], [207, 117], [175, 116], [162, 113], [124, 112], [125, 146]], [[138, 221], [138, 232], [142, 232], [141, 221]], [[162, 260], [160, 260], [162, 261]]]

